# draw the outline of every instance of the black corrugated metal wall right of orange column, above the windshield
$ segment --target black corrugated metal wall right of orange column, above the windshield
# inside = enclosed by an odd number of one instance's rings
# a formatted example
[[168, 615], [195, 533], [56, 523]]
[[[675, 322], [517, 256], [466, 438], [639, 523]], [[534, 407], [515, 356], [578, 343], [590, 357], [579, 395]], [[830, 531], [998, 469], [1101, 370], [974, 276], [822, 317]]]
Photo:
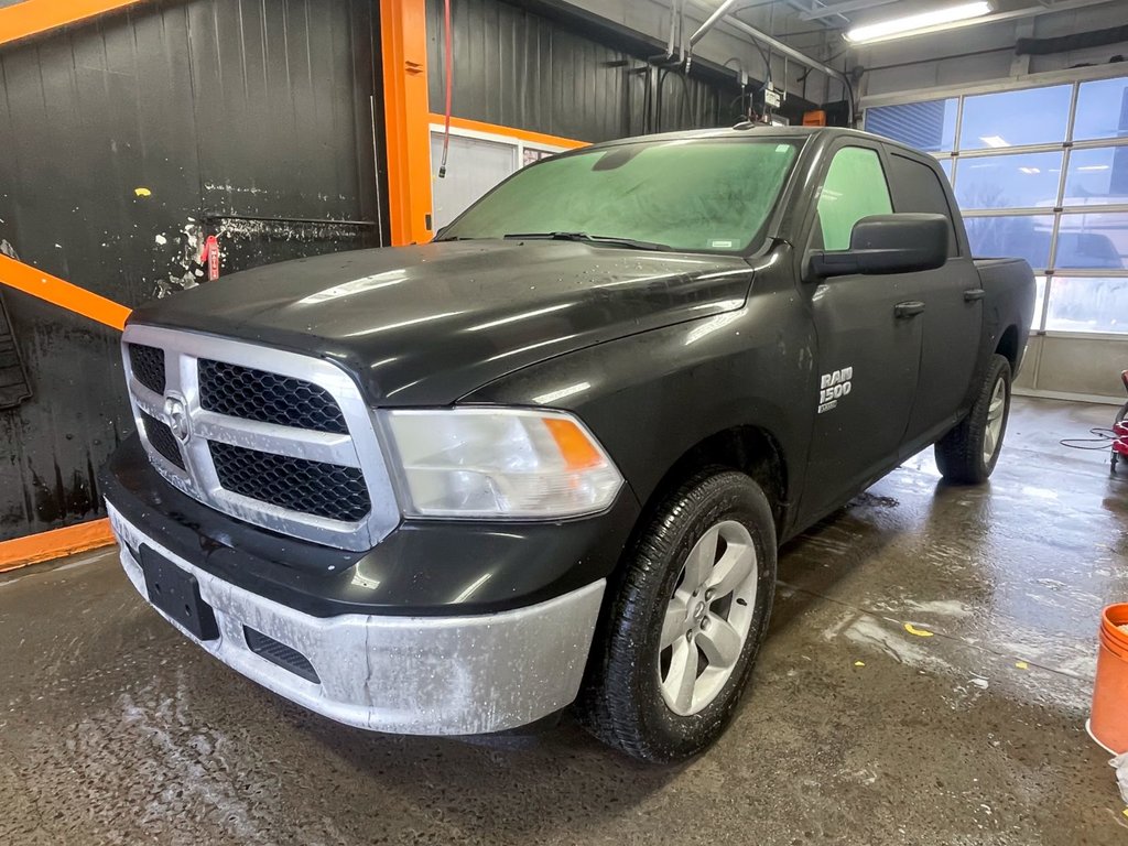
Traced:
[[[428, 82], [437, 113], [444, 97], [442, 7], [428, 0]], [[451, 30], [459, 117], [582, 141], [729, 125], [738, 117], [734, 80], [725, 86], [663, 72], [659, 99], [659, 72], [644, 68], [645, 56], [501, 0], [457, 0]]]

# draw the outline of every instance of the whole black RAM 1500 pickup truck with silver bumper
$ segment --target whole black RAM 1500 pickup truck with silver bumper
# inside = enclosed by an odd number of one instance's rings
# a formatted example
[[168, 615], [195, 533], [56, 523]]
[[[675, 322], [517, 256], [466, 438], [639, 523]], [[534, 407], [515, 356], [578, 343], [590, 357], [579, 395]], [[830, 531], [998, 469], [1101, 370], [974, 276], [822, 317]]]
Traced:
[[135, 311], [103, 491], [136, 589], [315, 712], [481, 734], [575, 703], [682, 759], [737, 707], [782, 541], [933, 443], [990, 475], [1033, 297], [890, 141], [597, 144], [431, 244]]

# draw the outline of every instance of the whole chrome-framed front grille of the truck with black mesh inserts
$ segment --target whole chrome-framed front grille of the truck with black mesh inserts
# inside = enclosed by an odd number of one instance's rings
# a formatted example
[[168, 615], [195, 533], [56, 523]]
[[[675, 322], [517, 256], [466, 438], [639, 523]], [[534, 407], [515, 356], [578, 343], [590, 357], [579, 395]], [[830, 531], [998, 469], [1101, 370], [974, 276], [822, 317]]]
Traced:
[[136, 324], [123, 347], [142, 443], [178, 490], [343, 549], [370, 549], [398, 523], [372, 412], [336, 364]]

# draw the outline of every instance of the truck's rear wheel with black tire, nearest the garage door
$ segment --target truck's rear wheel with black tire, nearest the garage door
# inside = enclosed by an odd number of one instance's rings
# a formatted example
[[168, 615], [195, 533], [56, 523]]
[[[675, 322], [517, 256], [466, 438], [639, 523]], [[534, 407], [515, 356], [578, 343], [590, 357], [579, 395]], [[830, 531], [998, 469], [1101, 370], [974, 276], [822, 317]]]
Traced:
[[941, 475], [961, 485], [986, 482], [998, 464], [1010, 416], [1011, 362], [996, 354], [968, 416], [936, 442]]

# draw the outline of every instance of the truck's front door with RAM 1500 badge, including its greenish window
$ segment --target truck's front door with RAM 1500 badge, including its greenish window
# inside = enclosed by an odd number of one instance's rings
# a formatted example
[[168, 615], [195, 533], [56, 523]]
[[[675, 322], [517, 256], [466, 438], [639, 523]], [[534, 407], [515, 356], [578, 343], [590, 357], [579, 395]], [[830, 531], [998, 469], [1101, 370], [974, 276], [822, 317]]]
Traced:
[[[891, 211], [879, 144], [839, 141], [800, 243], [846, 249], [854, 223]], [[800, 287], [818, 335], [818, 391], [803, 398], [814, 425], [802, 511], [813, 518], [896, 462], [913, 411], [922, 333], [905, 309], [898, 316], [899, 305], [917, 299], [913, 274], [858, 274]]]

